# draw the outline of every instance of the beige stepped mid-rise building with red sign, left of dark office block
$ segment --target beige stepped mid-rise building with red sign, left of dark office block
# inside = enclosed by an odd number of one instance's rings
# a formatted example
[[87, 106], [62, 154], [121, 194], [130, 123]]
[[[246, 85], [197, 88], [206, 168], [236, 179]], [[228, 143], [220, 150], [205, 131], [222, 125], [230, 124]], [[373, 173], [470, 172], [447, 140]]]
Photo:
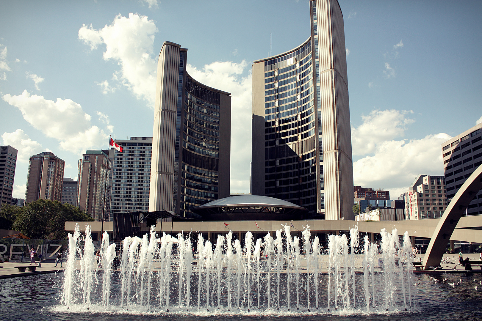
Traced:
[[405, 217], [441, 218], [447, 204], [445, 177], [418, 175], [405, 193]]

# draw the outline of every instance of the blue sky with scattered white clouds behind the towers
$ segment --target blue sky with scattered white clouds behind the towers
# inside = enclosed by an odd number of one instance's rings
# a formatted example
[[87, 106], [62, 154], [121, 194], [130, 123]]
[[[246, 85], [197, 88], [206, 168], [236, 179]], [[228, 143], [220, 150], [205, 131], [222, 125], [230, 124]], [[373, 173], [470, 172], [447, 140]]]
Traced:
[[[345, 23], [354, 184], [405, 192], [443, 175], [441, 144], [482, 122], [482, 1], [339, 0]], [[249, 193], [251, 64], [310, 35], [308, 0], [0, 0], [0, 142], [52, 151], [77, 179], [108, 136], [152, 136], [157, 57], [231, 93], [231, 193]], [[270, 51], [270, 34], [272, 51]]]

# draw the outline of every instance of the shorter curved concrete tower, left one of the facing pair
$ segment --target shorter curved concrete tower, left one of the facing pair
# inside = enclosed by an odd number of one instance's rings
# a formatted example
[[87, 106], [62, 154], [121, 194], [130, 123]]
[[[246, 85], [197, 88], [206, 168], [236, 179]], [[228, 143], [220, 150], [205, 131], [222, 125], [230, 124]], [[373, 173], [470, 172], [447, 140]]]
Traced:
[[191, 208], [229, 196], [231, 94], [194, 80], [187, 49], [164, 42], [157, 69], [149, 211], [197, 217]]

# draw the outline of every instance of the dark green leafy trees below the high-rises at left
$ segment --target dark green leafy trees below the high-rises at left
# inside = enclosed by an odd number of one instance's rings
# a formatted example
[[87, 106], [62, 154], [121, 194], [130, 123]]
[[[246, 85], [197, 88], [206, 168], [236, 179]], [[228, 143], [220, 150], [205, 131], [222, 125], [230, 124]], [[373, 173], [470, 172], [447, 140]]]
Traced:
[[21, 231], [31, 239], [50, 240], [60, 240], [66, 237], [67, 233], [64, 231], [66, 221], [93, 220], [78, 207], [43, 199], [38, 199], [23, 207], [9, 206], [5, 211], [2, 208], [0, 216], [13, 221], [12, 229]]

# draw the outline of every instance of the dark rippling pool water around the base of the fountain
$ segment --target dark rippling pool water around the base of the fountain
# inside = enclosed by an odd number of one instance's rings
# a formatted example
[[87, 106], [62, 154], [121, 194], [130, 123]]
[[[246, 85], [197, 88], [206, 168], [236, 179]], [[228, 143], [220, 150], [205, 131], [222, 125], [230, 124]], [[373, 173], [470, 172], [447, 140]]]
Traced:
[[[448, 278], [435, 283], [430, 279]], [[205, 311], [139, 312], [116, 308], [103, 311], [102, 307], [67, 310], [60, 304], [63, 273], [30, 275], [0, 280], [0, 319], [10, 320], [482, 320], [482, 274], [418, 274], [416, 308], [411, 311], [364, 313], [361, 310], [321, 312], [308, 311]], [[420, 278], [420, 280], [418, 280]], [[113, 278], [114, 279], [114, 278]], [[460, 282], [462, 280], [462, 282]], [[474, 281], [475, 280], [475, 281]], [[449, 283], [459, 282], [451, 286]], [[477, 289], [475, 287], [477, 286]], [[323, 304], [322, 306], [325, 306]]]

